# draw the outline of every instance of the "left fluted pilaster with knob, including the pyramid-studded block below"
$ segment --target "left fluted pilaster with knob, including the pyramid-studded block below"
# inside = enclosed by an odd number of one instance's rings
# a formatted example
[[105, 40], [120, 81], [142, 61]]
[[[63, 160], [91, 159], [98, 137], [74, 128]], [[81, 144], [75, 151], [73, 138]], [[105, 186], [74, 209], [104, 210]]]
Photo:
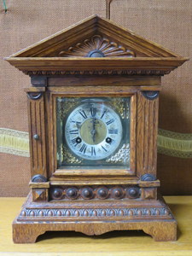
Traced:
[[45, 88], [25, 89], [29, 125], [32, 201], [49, 201], [49, 164]]

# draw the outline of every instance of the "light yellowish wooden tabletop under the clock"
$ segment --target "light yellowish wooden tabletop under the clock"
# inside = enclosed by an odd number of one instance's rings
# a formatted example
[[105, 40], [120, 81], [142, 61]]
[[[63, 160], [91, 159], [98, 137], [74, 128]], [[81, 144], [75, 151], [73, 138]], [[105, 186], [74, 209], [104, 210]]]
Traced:
[[85, 236], [72, 231], [46, 232], [34, 244], [14, 244], [12, 221], [24, 198], [0, 198], [0, 255], [162, 256], [192, 255], [192, 196], [165, 196], [177, 219], [177, 241], [154, 241], [143, 231], [113, 231]]

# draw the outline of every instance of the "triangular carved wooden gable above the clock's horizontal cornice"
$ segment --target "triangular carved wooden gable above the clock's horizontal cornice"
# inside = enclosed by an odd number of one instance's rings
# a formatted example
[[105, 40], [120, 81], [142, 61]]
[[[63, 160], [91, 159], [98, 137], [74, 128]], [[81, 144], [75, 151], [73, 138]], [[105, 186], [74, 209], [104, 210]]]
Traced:
[[[104, 56], [176, 57], [178, 55], [115, 25], [111, 20], [93, 15], [49, 38], [33, 44], [12, 57], [89, 56], [101, 50]], [[127, 54], [126, 54], [127, 53]]]

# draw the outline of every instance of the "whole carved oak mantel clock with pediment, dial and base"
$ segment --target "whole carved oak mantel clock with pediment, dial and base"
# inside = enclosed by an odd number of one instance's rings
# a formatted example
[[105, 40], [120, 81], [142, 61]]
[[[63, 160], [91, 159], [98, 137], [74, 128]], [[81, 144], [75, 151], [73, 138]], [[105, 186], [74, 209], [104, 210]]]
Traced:
[[97, 15], [7, 58], [26, 89], [31, 192], [15, 242], [48, 230], [144, 230], [176, 240], [157, 188], [161, 76], [183, 57]]

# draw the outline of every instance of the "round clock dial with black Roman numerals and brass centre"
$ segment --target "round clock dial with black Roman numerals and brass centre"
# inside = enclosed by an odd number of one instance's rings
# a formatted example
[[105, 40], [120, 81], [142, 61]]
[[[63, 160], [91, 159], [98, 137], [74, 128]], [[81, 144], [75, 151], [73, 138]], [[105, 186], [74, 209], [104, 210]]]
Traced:
[[98, 100], [73, 109], [65, 125], [68, 148], [86, 160], [102, 160], [113, 154], [119, 147], [122, 133], [119, 114]]

